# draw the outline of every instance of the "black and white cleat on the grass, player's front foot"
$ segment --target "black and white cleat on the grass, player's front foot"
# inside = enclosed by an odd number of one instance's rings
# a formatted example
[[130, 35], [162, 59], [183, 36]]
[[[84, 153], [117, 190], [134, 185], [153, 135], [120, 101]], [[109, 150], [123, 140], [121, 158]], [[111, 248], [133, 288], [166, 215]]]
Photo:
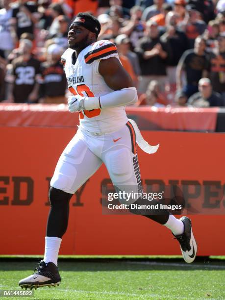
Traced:
[[41, 260], [34, 273], [19, 281], [19, 286], [25, 289], [36, 289], [42, 286], [56, 286], [61, 282], [58, 267], [52, 262], [47, 264]]

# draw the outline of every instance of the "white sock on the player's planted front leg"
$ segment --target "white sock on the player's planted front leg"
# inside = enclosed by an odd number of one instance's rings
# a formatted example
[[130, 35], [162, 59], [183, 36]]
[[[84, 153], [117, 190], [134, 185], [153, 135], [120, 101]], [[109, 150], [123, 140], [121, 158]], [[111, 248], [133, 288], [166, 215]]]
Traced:
[[53, 262], [57, 266], [58, 253], [62, 239], [54, 236], [45, 237], [45, 256], [44, 262]]

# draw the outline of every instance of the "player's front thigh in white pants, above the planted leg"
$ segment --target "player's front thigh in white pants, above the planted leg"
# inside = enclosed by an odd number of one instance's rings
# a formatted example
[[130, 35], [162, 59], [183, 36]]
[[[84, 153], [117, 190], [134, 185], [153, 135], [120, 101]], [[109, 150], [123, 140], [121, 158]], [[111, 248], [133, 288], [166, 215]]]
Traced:
[[100, 158], [75, 135], [60, 156], [50, 185], [74, 194], [99, 169], [101, 163]]

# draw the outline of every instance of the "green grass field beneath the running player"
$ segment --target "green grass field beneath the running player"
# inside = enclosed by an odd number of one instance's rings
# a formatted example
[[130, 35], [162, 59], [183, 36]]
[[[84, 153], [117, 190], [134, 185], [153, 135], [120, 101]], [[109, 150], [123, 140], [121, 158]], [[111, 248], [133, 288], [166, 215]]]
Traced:
[[[37, 258], [32, 261], [1, 258], [0, 289], [20, 289], [18, 281], [31, 275], [36, 265]], [[197, 260], [190, 265], [174, 258], [63, 259], [59, 269], [60, 286], [39, 288], [34, 290], [34, 297], [26, 299], [225, 299], [223, 257]]]

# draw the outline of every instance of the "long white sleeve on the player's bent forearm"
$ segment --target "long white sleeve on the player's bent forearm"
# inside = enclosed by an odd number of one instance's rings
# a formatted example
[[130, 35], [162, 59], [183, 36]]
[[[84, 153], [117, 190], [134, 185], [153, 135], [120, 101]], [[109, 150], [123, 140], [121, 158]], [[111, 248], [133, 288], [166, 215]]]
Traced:
[[136, 103], [137, 99], [136, 88], [129, 87], [100, 97], [86, 97], [84, 99], [84, 108], [91, 110], [97, 108], [125, 106]]

